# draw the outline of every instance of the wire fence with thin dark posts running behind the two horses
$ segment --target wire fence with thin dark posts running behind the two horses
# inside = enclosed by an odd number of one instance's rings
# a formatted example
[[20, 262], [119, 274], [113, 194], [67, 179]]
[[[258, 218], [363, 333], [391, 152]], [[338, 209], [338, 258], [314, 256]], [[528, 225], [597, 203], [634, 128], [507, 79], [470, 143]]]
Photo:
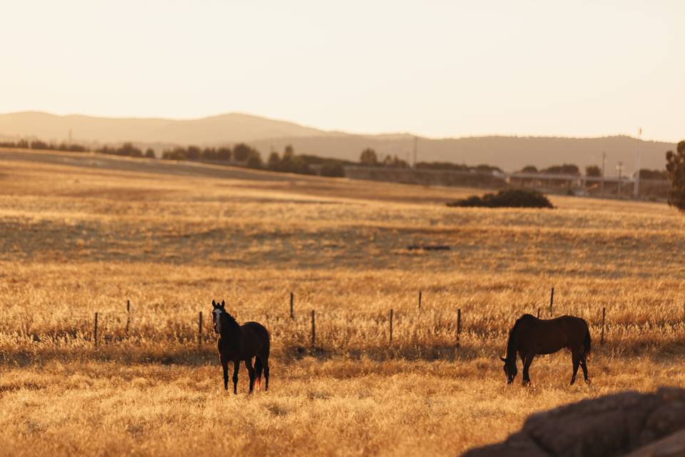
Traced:
[[[350, 341], [365, 341], [371, 344], [416, 343], [440, 341], [443, 344], [460, 346], [465, 336], [473, 340], [489, 340], [506, 337], [508, 327], [513, 325], [519, 316], [508, 316], [502, 313], [462, 313], [462, 308], [443, 309], [427, 307], [422, 291], [417, 293], [414, 311], [406, 308], [399, 311], [390, 308], [387, 312], [364, 313], [355, 311], [325, 311], [315, 308], [304, 312], [296, 309], [295, 294], [290, 293], [288, 308], [283, 312], [263, 313], [263, 316], [251, 316], [262, 322], [280, 340], [292, 345], [315, 347], [325, 343], [337, 348], [351, 346]], [[456, 313], [455, 313], [456, 311]], [[530, 310], [538, 318], [555, 316], [554, 288], [549, 295], [549, 306], [539, 306]], [[666, 331], [667, 333], [685, 330], [685, 305], [683, 313], [677, 316], [657, 316], [641, 324], [634, 331]], [[586, 316], [587, 317], [587, 316]], [[511, 324], [508, 326], [507, 323]], [[624, 331], [631, 331], [634, 324], [617, 323]], [[173, 340], [183, 344], [197, 344], [215, 339], [210, 313], [176, 313], [164, 316], [158, 310], [144, 306], [138, 308], [126, 301], [121, 311], [93, 311], [64, 313], [50, 322], [26, 320], [12, 325], [9, 321], [0, 324], [0, 334], [14, 333], [24, 338], [31, 338], [39, 343], [44, 340], [89, 341], [93, 346], [111, 345], [121, 341], [142, 343], [148, 339]], [[607, 308], [597, 310], [592, 316], [589, 327], [594, 341], [604, 344], [609, 331]]]

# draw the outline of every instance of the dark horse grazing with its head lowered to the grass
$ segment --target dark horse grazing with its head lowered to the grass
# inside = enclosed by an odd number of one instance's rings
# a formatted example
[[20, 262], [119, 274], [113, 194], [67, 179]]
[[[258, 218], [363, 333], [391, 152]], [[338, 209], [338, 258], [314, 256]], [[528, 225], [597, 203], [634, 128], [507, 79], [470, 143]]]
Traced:
[[573, 361], [571, 385], [576, 382], [579, 365], [583, 368], [585, 382], [589, 383], [585, 361], [590, 352], [590, 331], [587, 328], [587, 322], [574, 316], [539, 319], [530, 314], [524, 314], [509, 331], [507, 358], [500, 357], [504, 361], [504, 374], [507, 375], [507, 383], [514, 382], [516, 377], [517, 353], [523, 363], [523, 385], [525, 386], [530, 383], [528, 368], [533, 363], [533, 358], [538, 354], [555, 353], [562, 348], [571, 350], [571, 360]]

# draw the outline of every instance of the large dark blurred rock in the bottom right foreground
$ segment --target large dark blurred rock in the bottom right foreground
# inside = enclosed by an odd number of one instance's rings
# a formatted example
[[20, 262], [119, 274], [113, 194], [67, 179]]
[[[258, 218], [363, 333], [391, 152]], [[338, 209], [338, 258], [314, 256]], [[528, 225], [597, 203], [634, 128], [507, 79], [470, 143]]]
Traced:
[[[665, 438], [665, 439], [661, 439]], [[685, 389], [623, 392], [536, 413], [467, 457], [685, 456]]]

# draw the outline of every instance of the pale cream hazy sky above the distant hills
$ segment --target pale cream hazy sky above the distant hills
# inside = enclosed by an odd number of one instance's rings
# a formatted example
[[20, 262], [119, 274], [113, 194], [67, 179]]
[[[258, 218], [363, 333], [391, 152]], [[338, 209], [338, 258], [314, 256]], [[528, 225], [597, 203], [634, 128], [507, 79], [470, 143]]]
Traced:
[[0, 0], [0, 112], [685, 138], [685, 1]]

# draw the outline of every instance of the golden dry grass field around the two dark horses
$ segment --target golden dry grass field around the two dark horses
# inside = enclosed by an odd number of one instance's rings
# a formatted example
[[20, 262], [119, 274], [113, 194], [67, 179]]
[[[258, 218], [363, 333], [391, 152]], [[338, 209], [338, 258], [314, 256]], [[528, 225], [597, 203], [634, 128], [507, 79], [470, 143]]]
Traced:
[[[454, 455], [534, 411], [685, 385], [684, 216], [443, 204], [476, 192], [0, 151], [0, 454]], [[592, 383], [559, 353], [508, 387], [507, 331], [549, 316], [552, 286], [591, 326]], [[268, 393], [244, 369], [223, 392], [212, 298], [270, 329]]]

